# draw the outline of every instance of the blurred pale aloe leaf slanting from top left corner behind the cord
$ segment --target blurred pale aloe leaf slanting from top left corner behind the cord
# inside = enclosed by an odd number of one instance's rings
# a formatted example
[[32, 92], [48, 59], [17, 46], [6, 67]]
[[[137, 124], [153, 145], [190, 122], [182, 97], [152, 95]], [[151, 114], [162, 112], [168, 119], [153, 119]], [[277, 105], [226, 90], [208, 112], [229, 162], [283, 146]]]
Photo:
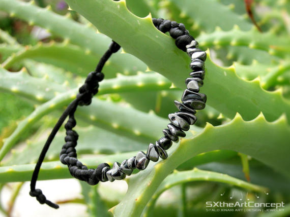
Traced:
[[[50, 9], [49, 7], [39, 8], [34, 5], [33, 1], [31, 3], [18, 0], [3, 0], [0, 2], [1, 11], [8, 12], [12, 17], [23, 19], [31, 25], [39, 25], [54, 35], [62, 37], [65, 43], [70, 42], [78, 45], [86, 53], [92, 52], [101, 56], [107, 50], [111, 40], [105, 35], [99, 34], [90, 26], [77, 23], [69, 17], [53, 13]], [[125, 72], [132, 74], [137, 70], [146, 70], [145, 64], [129, 54], [115, 54], [112, 56], [111, 61], [122, 66], [124, 70], [116, 71], [116, 73]]]

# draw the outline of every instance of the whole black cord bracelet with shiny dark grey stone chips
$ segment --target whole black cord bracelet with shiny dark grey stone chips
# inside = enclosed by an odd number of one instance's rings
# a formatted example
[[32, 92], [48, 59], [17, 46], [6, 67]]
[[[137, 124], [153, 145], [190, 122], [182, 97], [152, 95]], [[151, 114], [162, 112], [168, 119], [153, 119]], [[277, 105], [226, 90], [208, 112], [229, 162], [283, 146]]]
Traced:
[[112, 168], [110, 168], [107, 163], [102, 163], [96, 169], [88, 169], [88, 167], [77, 160], [75, 147], [77, 145], [78, 134], [73, 130], [76, 125], [74, 113], [77, 105], [90, 105], [93, 96], [98, 93], [99, 82], [104, 78], [104, 74], [101, 70], [105, 62], [111, 54], [117, 52], [121, 48], [119, 44], [112, 41], [109, 49], [100, 59], [96, 69], [88, 75], [85, 83], [79, 88], [76, 99], [68, 105], [59, 121], [57, 121], [42, 149], [32, 175], [30, 191], [30, 195], [36, 197], [41, 204], [46, 203], [53, 208], [59, 208], [57, 204], [46, 200], [42, 191], [40, 189], [35, 189], [35, 186], [41, 164], [50, 143], [68, 116], [68, 122], [65, 124], [66, 143], [60, 153], [60, 160], [63, 164], [68, 165], [72, 176], [90, 185], [96, 185], [99, 182], [106, 182], [108, 180], [113, 182], [115, 179], [124, 179], [126, 175], [131, 175], [135, 168], [138, 170], [146, 169], [150, 160], [156, 162], [159, 157], [166, 159], [168, 157], [166, 150], [172, 146], [172, 141], [178, 142], [179, 137], [185, 137], [184, 131], [189, 130], [190, 125], [196, 122], [196, 117], [194, 116], [196, 113], [195, 110], [204, 108], [207, 101], [207, 96], [203, 93], [199, 93], [199, 87], [203, 85], [202, 80], [204, 80], [205, 76], [205, 60], [207, 54], [198, 49], [198, 43], [189, 35], [184, 24], [160, 18], [153, 18], [152, 21], [156, 28], [163, 33], [169, 32], [170, 36], [176, 40], [175, 43], [179, 49], [187, 52], [191, 57], [190, 68], [193, 70], [189, 74], [192, 78], [188, 78], [185, 81], [187, 89], [182, 95], [182, 102], [174, 101], [179, 111], [168, 115], [171, 123], [167, 125], [168, 129], [163, 130], [164, 136], [158, 139], [155, 144], [150, 143], [146, 154], [140, 151], [136, 156], [124, 160], [121, 164], [115, 162]]

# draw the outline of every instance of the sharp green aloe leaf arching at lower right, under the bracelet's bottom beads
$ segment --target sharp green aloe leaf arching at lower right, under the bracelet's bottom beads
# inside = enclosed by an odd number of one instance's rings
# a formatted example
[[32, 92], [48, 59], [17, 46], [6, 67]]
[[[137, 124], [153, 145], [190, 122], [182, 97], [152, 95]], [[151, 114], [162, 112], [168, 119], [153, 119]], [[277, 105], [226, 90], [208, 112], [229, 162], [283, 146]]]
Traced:
[[[289, 177], [289, 131], [285, 117], [269, 123], [263, 115], [247, 122], [237, 115], [229, 123], [217, 127], [208, 124], [198, 135], [183, 139], [166, 160], [152, 163], [142, 174], [130, 177], [126, 196], [112, 208], [112, 212], [114, 216], [140, 215], [162, 180], [173, 169], [196, 154], [212, 150], [235, 150], [250, 155]], [[273, 158], [273, 155], [279, 158]]]

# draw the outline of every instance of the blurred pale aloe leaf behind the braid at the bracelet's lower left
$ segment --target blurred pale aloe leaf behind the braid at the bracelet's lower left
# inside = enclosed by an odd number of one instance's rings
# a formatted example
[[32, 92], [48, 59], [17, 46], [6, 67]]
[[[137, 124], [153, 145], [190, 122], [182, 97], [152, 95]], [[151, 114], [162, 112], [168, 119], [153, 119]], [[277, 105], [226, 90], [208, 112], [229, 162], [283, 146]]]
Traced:
[[[82, 154], [114, 154], [138, 151], [146, 149], [148, 146], [146, 142], [136, 141], [98, 127], [78, 127], [76, 131], [79, 135], [78, 146], [76, 147], [78, 156]], [[65, 132], [61, 132], [55, 136], [45, 160], [52, 161], [59, 159], [60, 150], [63, 144], [65, 144], [64, 138]], [[23, 150], [13, 150], [12, 156], [2, 162], [1, 165], [35, 163], [44, 143], [45, 139], [41, 139], [40, 141], [27, 141]], [[27, 158], [27, 156], [31, 157]]]

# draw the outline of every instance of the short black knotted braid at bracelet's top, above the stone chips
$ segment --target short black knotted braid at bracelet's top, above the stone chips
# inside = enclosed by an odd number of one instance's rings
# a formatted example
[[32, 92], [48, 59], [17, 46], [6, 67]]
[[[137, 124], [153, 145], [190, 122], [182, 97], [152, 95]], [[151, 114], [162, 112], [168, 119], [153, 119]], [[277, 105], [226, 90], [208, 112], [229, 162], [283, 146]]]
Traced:
[[168, 31], [170, 36], [176, 40], [176, 46], [183, 51], [186, 51], [186, 46], [194, 40], [194, 38], [189, 35], [188, 30], [185, 29], [185, 25], [183, 23], [164, 20], [162, 18], [153, 18], [152, 21], [158, 30], [163, 33]]

